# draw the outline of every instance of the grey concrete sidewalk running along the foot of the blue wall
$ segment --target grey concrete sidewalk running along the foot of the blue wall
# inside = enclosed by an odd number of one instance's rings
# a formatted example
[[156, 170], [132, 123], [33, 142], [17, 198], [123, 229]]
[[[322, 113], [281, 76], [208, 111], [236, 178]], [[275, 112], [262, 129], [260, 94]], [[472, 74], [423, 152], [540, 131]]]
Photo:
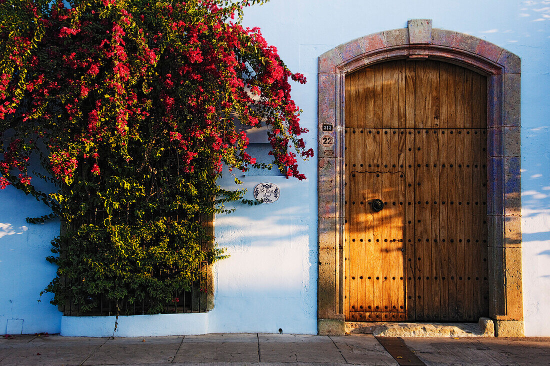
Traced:
[[[406, 338], [426, 365], [548, 365], [548, 338]], [[406, 348], [405, 347], [405, 348]], [[0, 365], [398, 365], [370, 335], [207, 334], [0, 338]]]

